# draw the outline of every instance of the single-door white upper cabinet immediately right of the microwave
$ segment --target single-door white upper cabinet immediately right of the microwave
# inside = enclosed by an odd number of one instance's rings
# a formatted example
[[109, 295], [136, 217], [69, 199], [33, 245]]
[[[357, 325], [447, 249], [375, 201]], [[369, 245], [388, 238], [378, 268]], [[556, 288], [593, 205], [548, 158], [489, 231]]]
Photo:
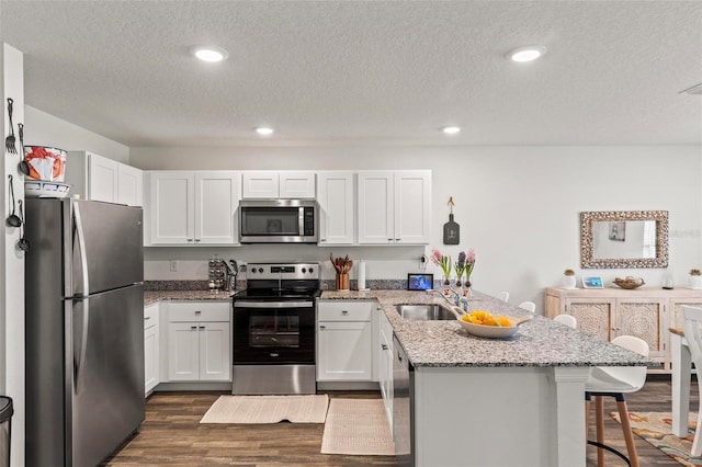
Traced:
[[317, 172], [319, 244], [353, 244], [353, 172]]

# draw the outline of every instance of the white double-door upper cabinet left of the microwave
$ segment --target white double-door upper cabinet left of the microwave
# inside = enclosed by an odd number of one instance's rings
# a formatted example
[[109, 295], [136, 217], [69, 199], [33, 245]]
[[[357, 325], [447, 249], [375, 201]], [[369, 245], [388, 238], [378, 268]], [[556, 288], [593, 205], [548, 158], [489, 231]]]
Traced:
[[224, 170], [147, 172], [150, 244], [238, 244], [239, 176]]

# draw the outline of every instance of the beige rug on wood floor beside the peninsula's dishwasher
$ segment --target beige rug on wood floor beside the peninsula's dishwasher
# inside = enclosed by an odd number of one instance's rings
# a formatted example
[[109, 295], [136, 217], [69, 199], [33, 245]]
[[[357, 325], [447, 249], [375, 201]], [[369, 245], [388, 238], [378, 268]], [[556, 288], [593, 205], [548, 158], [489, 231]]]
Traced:
[[321, 454], [394, 456], [382, 399], [331, 399]]

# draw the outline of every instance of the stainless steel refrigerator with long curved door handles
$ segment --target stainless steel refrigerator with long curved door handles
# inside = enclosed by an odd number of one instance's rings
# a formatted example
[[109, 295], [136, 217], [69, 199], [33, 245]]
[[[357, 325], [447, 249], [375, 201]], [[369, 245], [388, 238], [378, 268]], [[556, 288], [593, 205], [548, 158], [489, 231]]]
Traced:
[[26, 465], [93, 467], [145, 417], [143, 210], [25, 203]]

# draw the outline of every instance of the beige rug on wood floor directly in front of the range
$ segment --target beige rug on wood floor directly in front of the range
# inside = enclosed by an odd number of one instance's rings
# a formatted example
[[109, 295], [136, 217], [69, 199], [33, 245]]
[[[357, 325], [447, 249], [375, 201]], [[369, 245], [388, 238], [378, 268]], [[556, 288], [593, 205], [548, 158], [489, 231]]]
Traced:
[[220, 396], [200, 423], [324, 423], [329, 396]]

